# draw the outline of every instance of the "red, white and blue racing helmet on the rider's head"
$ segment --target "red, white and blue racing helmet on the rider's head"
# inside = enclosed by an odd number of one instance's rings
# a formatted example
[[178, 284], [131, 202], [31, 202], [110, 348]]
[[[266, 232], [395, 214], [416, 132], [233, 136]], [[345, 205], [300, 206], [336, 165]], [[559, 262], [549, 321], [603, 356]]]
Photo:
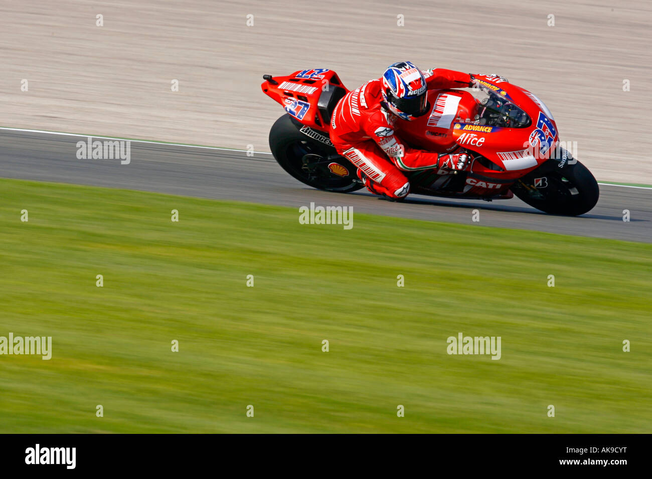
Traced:
[[389, 65], [381, 80], [383, 100], [394, 115], [412, 121], [428, 111], [426, 78], [413, 63]]

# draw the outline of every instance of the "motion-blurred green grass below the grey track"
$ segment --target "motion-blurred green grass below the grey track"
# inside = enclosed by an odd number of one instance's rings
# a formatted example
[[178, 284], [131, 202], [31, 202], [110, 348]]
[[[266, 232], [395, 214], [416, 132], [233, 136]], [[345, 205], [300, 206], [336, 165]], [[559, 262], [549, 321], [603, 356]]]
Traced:
[[652, 245], [298, 218], [0, 179], [0, 336], [53, 342], [0, 356], [0, 433], [652, 431]]

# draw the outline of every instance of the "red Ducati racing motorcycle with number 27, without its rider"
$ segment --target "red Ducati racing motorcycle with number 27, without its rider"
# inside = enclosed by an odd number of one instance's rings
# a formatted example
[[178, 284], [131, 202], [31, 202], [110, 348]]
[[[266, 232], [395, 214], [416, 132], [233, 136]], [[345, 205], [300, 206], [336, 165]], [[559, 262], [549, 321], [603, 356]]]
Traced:
[[[479, 86], [428, 91], [430, 113], [395, 129], [411, 147], [471, 156], [464, 172], [404, 172], [411, 192], [428, 196], [509, 199], [514, 195], [546, 213], [578, 215], [600, 194], [591, 172], [559, 146], [550, 110], [534, 94], [502, 77], [475, 75]], [[269, 132], [280, 166], [301, 182], [333, 192], [363, 188], [356, 167], [337, 154], [329, 138], [331, 114], [348, 93], [333, 70], [263, 75], [263, 92], [284, 106]], [[475, 90], [475, 91], [473, 91]]]

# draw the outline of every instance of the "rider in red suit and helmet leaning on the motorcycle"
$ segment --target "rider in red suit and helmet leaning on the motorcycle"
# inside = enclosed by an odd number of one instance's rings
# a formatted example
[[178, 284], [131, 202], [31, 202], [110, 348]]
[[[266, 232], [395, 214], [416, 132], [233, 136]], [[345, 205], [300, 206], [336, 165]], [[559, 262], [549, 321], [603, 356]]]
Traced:
[[370, 80], [346, 94], [333, 110], [331, 141], [337, 152], [357, 166], [367, 189], [391, 201], [409, 194], [403, 171], [447, 168], [464, 171], [468, 155], [413, 149], [395, 133], [394, 123], [429, 111], [428, 89], [476, 85], [468, 73], [436, 68], [422, 72], [409, 61], [390, 65], [378, 80]]

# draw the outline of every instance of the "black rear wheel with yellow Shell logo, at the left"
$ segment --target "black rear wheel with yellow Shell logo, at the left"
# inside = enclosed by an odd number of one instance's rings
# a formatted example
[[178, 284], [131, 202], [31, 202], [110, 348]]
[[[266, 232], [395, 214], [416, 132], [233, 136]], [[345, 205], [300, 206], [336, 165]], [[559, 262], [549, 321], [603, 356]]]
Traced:
[[269, 147], [276, 162], [297, 180], [319, 190], [348, 193], [363, 188], [357, 168], [333, 147], [301, 132], [302, 127], [290, 115], [276, 120], [269, 132]]

